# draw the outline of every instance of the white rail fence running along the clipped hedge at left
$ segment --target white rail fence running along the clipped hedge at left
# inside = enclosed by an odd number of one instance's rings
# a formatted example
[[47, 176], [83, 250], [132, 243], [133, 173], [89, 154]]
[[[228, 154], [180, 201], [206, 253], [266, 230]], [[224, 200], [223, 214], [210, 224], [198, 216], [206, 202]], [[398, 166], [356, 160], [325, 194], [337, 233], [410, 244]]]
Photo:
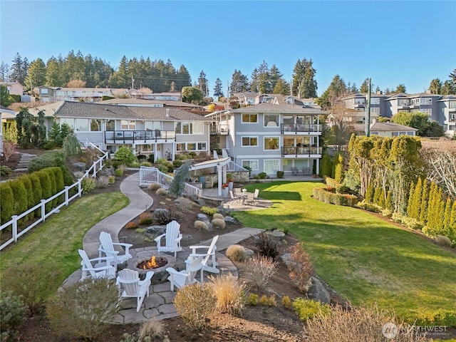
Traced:
[[[8, 241], [1, 244], [0, 251], [2, 249], [4, 249], [6, 246], [8, 246], [9, 244], [11, 244], [12, 242], [17, 242], [17, 239], [19, 237], [26, 234], [26, 232], [28, 232], [30, 229], [35, 227], [37, 224], [44, 222], [46, 220], [46, 218], [49, 217], [51, 214], [53, 214], [55, 212], [59, 212], [59, 209], [61, 207], [63, 207], [64, 205], [68, 205], [71, 202], [71, 200], [75, 199], [76, 197], [81, 197], [82, 192], [83, 192], [83, 189], [81, 186], [81, 181], [86, 177], [96, 177], [97, 172], [99, 170], [103, 169], [103, 160], [105, 160], [108, 157], [108, 153], [106, 153], [106, 152], [103, 152], [103, 153], [105, 153], [103, 155], [103, 157], [100, 157], [100, 159], [98, 159], [96, 162], [93, 162], [93, 165], [86, 171], [86, 173], [83, 175], [83, 177], [78, 179], [78, 181], [76, 183], [74, 183], [73, 185], [70, 185], [68, 187], [65, 187], [65, 189], [63, 189], [61, 192], [58, 192], [56, 195], [53, 195], [52, 197], [49, 197], [48, 199], [41, 199], [41, 202], [36, 204], [35, 207], [28, 209], [26, 212], [23, 212], [22, 214], [13, 215], [8, 222], [2, 224], [0, 226], [0, 232], [2, 232], [4, 229], [11, 228], [12, 234], [11, 234], [11, 239], [9, 239]], [[70, 196], [70, 190], [75, 187], [78, 187], [76, 194], [74, 194], [73, 196]], [[65, 195], [65, 201], [62, 202], [61, 204], [58, 204], [57, 207], [51, 209], [49, 212], [46, 212], [46, 204], [61, 195]], [[32, 224], [30, 224], [28, 227], [22, 229], [21, 232], [18, 232], [17, 222], [19, 221], [19, 219], [26, 217], [28, 214], [30, 214], [31, 212], [34, 212], [35, 210], [38, 210], [38, 209], [40, 209], [41, 217], [36, 219], [36, 221], [33, 222]]]

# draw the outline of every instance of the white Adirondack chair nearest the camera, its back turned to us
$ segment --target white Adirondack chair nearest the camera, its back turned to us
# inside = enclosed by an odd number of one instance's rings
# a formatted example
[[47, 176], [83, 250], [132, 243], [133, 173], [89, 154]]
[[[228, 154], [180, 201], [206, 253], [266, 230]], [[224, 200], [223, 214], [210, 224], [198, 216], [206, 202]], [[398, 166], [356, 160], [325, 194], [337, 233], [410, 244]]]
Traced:
[[154, 271], [147, 271], [145, 279], [140, 280], [138, 271], [133, 271], [133, 269], [123, 269], [118, 273], [115, 284], [120, 288], [120, 296], [122, 298], [136, 298], [138, 301], [136, 312], [140, 311], [145, 295], [149, 296], [150, 279], [153, 275]]

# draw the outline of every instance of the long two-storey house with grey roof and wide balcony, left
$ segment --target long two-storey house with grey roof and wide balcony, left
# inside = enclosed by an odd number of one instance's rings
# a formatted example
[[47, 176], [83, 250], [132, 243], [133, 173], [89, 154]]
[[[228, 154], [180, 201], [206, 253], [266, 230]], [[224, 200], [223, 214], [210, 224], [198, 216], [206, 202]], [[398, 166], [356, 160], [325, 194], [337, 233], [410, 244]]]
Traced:
[[116, 152], [120, 146], [154, 160], [174, 160], [176, 153], [209, 153], [212, 119], [176, 108], [154, 108], [65, 102], [55, 113], [58, 123], [73, 127], [83, 143]]

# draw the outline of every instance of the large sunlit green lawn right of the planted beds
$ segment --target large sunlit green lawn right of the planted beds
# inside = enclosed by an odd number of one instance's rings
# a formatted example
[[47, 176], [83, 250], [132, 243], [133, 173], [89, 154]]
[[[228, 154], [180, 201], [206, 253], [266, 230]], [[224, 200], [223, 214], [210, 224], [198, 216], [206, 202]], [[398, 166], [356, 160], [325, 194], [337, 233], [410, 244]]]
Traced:
[[304, 242], [314, 268], [355, 305], [378, 303], [413, 319], [438, 309], [456, 315], [456, 254], [361, 209], [311, 198], [316, 182], [249, 185], [269, 209], [234, 212], [246, 227], [289, 229]]

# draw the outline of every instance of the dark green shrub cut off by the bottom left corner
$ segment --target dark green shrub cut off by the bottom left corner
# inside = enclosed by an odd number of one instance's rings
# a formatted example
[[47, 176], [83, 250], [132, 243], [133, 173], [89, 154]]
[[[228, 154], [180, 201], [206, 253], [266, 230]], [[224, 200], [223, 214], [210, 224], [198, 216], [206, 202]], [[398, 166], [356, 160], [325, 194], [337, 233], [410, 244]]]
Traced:
[[26, 306], [20, 296], [11, 291], [1, 291], [0, 297], [0, 340], [15, 341], [18, 329], [25, 321]]

